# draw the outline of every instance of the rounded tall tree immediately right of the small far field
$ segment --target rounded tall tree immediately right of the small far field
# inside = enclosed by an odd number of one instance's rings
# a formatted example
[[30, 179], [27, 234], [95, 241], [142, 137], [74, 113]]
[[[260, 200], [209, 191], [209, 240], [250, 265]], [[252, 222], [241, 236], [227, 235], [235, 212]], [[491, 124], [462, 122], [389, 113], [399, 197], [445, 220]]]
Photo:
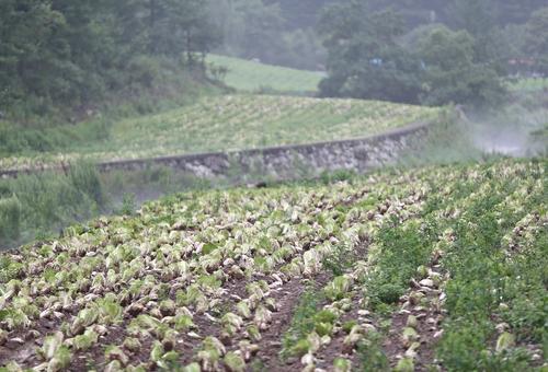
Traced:
[[421, 65], [396, 43], [402, 32], [391, 10], [370, 12], [358, 1], [328, 7], [319, 23], [329, 72], [321, 94], [416, 103]]

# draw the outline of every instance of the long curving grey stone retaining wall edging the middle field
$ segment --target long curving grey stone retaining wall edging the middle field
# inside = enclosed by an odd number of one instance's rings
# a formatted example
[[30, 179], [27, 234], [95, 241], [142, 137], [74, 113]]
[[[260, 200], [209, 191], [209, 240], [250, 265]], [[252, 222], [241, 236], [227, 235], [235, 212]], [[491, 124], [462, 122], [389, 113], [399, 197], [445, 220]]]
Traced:
[[[230, 173], [292, 178], [296, 174], [311, 175], [342, 168], [363, 173], [396, 161], [402, 150], [409, 148], [413, 138], [427, 130], [427, 126], [423, 123], [413, 124], [379, 136], [353, 140], [103, 162], [98, 164], [98, 168], [101, 172], [139, 171], [150, 165], [160, 165], [201, 178], [227, 176]], [[28, 171], [0, 171], [3, 177], [16, 177], [20, 173]]]

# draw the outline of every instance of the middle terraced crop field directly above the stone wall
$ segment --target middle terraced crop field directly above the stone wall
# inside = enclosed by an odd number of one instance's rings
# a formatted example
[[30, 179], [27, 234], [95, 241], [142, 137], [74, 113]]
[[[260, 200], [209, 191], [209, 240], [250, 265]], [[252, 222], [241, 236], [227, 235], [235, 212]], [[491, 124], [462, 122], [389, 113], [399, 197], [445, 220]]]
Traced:
[[110, 161], [351, 139], [433, 120], [438, 113], [438, 108], [376, 101], [214, 96], [162, 114], [116, 121], [104, 141], [79, 143], [62, 153], [0, 159], [0, 168], [59, 164], [80, 156]]

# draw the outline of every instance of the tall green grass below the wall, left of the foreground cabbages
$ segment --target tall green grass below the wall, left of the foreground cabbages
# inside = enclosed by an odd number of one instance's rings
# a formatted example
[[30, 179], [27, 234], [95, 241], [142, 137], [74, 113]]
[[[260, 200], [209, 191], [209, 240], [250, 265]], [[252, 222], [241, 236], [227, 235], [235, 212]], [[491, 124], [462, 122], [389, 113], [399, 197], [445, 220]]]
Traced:
[[44, 172], [0, 179], [0, 248], [54, 239], [99, 214], [130, 214], [144, 201], [190, 189], [228, 186], [163, 166], [100, 174], [92, 163], [65, 173]]

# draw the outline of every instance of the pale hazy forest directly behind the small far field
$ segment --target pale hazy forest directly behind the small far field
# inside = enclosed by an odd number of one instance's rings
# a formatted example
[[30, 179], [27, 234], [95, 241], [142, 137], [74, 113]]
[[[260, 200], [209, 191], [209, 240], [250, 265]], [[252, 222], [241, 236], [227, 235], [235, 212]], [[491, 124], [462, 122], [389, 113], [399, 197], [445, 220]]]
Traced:
[[313, 0], [218, 0], [212, 13], [225, 37], [217, 51], [271, 65], [318, 69], [326, 56], [313, 30], [318, 9]]

